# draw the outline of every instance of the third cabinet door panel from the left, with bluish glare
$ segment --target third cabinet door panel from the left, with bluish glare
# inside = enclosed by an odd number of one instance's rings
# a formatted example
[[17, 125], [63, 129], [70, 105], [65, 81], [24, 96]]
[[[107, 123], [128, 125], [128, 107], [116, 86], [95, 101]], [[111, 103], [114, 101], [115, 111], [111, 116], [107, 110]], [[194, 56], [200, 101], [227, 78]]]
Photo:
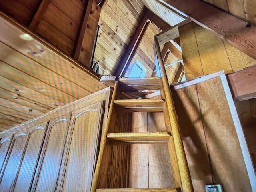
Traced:
[[47, 122], [29, 129], [26, 152], [17, 175], [14, 192], [28, 192], [36, 171]]

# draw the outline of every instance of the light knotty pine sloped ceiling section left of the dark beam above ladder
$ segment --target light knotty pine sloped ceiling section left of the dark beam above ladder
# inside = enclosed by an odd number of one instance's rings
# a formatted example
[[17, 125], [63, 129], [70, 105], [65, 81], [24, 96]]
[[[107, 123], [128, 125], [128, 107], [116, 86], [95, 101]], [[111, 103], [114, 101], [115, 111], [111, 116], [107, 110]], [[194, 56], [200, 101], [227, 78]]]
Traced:
[[99, 61], [101, 74], [115, 73], [144, 8], [141, 0], [108, 0], [103, 6], [94, 55], [94, 61]]

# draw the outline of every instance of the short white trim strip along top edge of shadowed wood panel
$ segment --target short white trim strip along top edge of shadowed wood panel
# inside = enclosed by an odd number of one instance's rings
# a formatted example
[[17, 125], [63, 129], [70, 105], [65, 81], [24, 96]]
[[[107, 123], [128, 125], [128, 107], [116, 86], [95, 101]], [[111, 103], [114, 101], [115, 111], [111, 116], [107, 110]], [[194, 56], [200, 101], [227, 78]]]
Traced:
[[225, 72], [223, 70], [212, 73], [212, 74], [209, 74], [209, 75], [204, 75], [204, 76], [198, 77], [198, 78], [193, 79], [193, 80], [180, 82], [178, 84], [174, 84], [174, 85], [171, 85], [171, 86], [173, 86], [174, 90], [177, 90], [177, 89], [185, 88], [185, 87], [188, 87], [188, 86], [191, 86], [191, 85], [194, 85], [194, 84], [198, 84], [198, 83], [201, 83], [201, 82], [219, 77], [221, 75], [225, 75]]

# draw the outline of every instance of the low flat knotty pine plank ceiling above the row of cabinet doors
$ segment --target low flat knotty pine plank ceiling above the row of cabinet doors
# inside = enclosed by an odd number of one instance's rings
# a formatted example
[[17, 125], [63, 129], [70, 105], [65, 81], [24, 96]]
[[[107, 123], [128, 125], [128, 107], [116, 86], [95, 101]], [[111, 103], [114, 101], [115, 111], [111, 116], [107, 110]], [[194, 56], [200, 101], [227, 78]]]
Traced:
[[[0, 128], [40, 116], [105, 86], [74, 61], [0, 17]], [[30, 34], [23, 40], [24, 34]]]

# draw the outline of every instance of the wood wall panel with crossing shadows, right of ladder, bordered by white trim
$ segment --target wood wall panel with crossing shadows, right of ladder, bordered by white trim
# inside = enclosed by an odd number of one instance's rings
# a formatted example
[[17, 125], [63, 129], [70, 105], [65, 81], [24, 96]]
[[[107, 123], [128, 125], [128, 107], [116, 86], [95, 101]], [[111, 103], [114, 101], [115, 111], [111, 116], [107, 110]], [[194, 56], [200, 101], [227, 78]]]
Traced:
[[172, 94], [194, 190], [215, 182], [224, 191], [252, 191], [220, 77]]

